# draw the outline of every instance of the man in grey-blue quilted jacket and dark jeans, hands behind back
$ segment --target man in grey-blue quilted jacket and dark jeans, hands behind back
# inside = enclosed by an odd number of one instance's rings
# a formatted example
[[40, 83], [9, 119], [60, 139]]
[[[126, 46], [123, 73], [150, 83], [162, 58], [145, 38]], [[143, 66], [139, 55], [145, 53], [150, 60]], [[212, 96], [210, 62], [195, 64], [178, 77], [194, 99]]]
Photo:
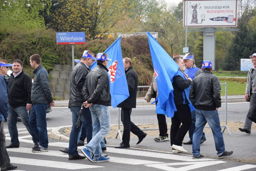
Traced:
[[48, 152], [48, 134], [46, 124], [47, 107], [54, 106], [51, 95], [50, 81], [47, 70], [41, 64], [41, 57], [38, 54], [30, 56], [30, 65], [35, 70], [32, 89], [31, 101], [33, 107], [29, 118], [29, 125], [37, 137], [38, 146], [32, 149], [32, 152]]

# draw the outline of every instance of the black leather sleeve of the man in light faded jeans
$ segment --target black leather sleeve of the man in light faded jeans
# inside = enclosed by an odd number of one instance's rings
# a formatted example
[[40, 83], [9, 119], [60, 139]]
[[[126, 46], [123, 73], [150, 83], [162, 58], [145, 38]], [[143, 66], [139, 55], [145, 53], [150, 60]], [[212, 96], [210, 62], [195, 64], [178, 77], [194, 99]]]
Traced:
[[100, 93], [104, 89], [105, 85], [107, 84], [108, 81], [108, 75], [107, 74], [99, 74], [97, 76], [97, 86], [96, 89], [93, 91], [93, 94], [87, 100], [88, 103], [94, 103], [97, 99], [99, 99]]

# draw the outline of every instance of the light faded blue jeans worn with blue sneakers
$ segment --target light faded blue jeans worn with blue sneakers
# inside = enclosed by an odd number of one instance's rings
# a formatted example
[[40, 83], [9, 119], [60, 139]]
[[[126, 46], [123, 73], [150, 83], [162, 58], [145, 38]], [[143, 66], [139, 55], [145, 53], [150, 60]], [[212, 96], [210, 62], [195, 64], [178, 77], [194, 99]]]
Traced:
[[90, 107], [93, 122], [93, 138], [85, 147], [93, 152], [94, 159], [102, 154], [100, 142], [110, 133], [110, 113], [108, 106], [93, 104]]

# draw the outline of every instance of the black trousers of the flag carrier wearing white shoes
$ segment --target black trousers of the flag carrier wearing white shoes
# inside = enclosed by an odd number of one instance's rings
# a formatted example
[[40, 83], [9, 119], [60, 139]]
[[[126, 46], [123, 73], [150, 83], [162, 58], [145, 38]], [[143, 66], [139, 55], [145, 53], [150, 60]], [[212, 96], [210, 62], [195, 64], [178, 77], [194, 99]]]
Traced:
[[[176, 105], [177, 111], [172, 117], [170, 131], [171, 146], [182, 146], [182, 141], [192, 123], [190, 107], [187, 104]], [[182, 125], [181, 125], [182, 123]]]

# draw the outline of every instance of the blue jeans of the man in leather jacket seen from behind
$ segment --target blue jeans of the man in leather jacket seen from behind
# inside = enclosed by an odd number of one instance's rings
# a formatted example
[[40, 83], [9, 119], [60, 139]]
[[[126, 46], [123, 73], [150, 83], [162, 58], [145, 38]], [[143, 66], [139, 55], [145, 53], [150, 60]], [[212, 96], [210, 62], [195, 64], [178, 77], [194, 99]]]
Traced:
[[218, 115], [218, 110], [196, 110], [196, 129], [193, 135], [193, 156], [200, 156], [200, 138], [202, 136], [203, 128], [208, 122], [210, 128], [212, 129], [212, 134], [215, 142], [215, 149], [217, 150], [217, 155], [220, 156], [225, 152], [225, 145], [223, 140], [223, 135], [221, 133], [220, 119]]

